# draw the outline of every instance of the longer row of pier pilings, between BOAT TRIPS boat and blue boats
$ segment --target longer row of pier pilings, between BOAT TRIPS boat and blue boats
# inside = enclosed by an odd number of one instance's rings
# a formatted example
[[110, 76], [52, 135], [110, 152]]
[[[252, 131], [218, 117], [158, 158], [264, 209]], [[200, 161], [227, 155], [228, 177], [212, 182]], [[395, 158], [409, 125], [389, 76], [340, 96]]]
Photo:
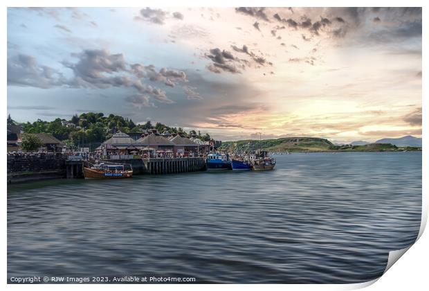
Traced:
[[206, 169], [206, 161], [203, 158], [143, 159], [143, 164], [149, 175], [197, 172]]

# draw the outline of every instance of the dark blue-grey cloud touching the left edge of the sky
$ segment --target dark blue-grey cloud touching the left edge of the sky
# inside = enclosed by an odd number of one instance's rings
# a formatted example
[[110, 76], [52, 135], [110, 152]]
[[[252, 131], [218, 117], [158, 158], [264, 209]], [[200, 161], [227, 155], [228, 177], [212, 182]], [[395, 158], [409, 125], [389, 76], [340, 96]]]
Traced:
[[33, 56], [19, 54], [8, 58], [8, 85], [47, 89], [63, 82], [62, 73], [37, 64]]

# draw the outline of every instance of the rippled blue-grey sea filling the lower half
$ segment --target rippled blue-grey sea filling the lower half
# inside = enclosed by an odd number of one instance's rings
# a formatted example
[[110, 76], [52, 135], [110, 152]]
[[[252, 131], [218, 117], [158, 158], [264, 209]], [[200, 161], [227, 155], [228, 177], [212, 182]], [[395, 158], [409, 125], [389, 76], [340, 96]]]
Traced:
[[358, 283], [414, 243], [421, 152], [277, 156], [271, 172], [8, 187], [11, 276]]

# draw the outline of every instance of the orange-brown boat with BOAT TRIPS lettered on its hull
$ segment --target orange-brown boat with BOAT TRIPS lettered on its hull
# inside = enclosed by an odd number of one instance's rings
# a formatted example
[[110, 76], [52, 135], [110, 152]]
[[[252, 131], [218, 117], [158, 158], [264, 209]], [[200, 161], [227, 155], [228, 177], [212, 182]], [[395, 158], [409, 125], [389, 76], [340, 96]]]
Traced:
[[123, 179], [133, 177], [130, 164], [95, 164], [84, 166], [85, 179]]

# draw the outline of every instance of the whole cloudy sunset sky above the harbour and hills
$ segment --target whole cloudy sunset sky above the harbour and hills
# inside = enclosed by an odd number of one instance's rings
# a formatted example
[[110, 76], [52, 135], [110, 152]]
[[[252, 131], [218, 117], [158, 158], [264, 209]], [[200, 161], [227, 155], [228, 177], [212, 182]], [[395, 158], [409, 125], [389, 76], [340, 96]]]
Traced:
[[8, 8], [8, 113], [421, 137], [421, 24], [421, 8]]

